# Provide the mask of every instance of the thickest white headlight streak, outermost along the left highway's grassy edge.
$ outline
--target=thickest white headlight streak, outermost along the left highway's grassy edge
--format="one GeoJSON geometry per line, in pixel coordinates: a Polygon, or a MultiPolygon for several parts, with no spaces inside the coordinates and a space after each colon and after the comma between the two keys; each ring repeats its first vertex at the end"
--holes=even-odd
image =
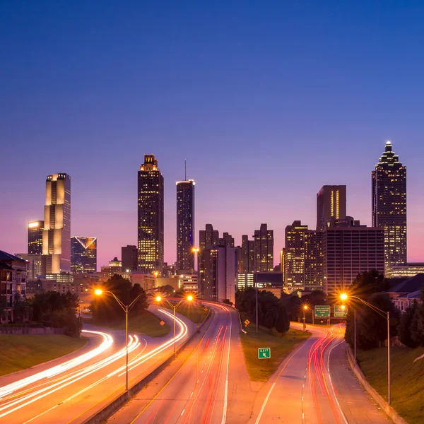
{"type": "Polygon", "coordinates": [[[4,398],[4,396],[11,394],[13,391],[16,391],[18,389],[22,389],[23,387],[28,386],[28,384],[33,384],[39,381],[40,379],[53,377],[54,375],[58,375],[61,372],[70,370],[71,368],[76,367],[77,365],[81,365],[82,363],[100,355],[100,353],[105,352],[108,348],[110,348],[110,346],[112,346],[113,338],[112,336],[110,336],[110,334],[102,333],[101,331],[88,331],[88,330],[83,330],[82,332],[97,334],[98,336],[103,338],[103,341],[102,343],[100,343],[100,346],[98,346],[97,348],[94,348],[93,350],[87,353],[84,353],[83,355],[80,355],[76,358],[66,361],[65,363],[56,365],[52,368],[49,368],[48,370],[37,372],[37,374],[35,375],[30,375],[30,377],[25,377],[23,379],[18,380],[17,382],[8,384],[7,386],[0,387],[0,401],[4,398]]]}

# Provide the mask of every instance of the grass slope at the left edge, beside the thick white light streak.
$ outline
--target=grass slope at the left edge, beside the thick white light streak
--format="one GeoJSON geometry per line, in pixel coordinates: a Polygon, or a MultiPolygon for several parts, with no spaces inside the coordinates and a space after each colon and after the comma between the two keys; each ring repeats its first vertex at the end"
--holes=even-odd
{"type": "Polygon", "coordinates": [[[82,348],[86,343],[86,338],[55,334],[0,334],[0,375],[59,358],[82,348]]]}

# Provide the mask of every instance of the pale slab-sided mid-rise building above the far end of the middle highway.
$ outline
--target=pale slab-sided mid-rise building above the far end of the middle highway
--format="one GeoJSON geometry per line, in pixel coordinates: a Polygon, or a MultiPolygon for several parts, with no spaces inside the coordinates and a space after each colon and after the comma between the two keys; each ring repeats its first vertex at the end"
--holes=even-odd
{"type": "Polygon", "coordinates": [[[199,295],[204,300],[235,302],[237,258],[235,247],[206,247],[201,254],[199,295]]]}

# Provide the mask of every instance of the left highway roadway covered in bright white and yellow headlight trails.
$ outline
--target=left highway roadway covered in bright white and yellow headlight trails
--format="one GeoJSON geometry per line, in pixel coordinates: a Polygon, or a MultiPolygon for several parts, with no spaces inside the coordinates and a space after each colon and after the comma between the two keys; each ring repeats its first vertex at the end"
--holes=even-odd
{"type": "MultiPolygon", "coordinates": [[[[156,313],[172,326],[173,317],[169,310],[153,309],[157,309],[156,313]]],[[[86,332],[93,348],[86,349],[81,355],[71,359],[59,358],[0,379],[1,423],[83,423],[108,399],[124,391],[124,331],[93,332],[94,328],[87,326],[86,332]]],[[[177,346],[194,331],[192,322],[177,315],[177,346]]],[[[130,386],[131,380],[148,374],[172,352],[173,334],[165,338],[130,334],[130,386]]]]}

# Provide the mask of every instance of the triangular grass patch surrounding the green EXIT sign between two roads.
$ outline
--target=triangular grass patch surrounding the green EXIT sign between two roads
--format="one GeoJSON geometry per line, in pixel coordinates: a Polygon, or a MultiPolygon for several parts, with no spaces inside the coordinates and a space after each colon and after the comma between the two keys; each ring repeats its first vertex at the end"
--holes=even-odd
{"type": "Polygon", "coordinates": [[[309,332],[290,329],[284,336],[273,336],[261,330],[256,333],[253,327],[249,334],[241,334],[249,378],[254,382],[266,382],[284,358],[310,335],[309,332]],[[271,359],[258,359],[258,348],[271,348],[271,359]]]}

